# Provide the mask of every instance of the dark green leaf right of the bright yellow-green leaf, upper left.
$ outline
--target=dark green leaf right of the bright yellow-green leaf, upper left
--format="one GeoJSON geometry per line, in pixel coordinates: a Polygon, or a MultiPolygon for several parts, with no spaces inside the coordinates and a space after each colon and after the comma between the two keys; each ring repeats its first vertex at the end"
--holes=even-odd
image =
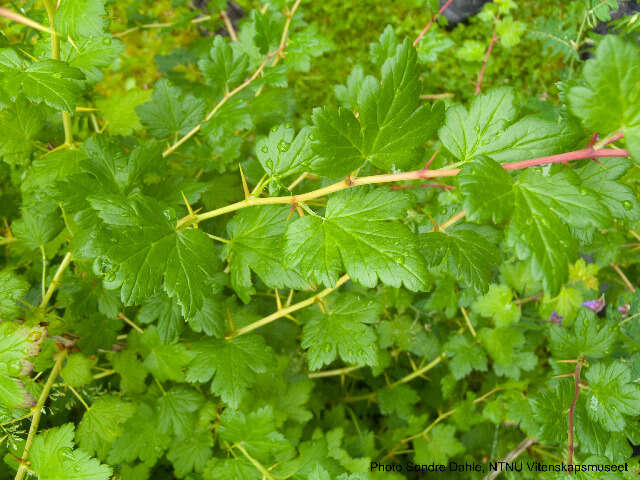
{"type": "Polygon", "coordinates": [[[151,102],[136,107],[142,124],[156,138],[184,135],[204,118],[205,104],[178,87],[160,79],[153,89],[151,102]]]}

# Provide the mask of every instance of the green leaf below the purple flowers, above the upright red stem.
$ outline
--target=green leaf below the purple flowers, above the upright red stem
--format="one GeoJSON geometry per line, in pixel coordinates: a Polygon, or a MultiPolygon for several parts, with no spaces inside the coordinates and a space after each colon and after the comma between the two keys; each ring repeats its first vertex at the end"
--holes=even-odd
{"type": "Polygon", "coordinates": [[[573,329],[552,325],[549,341],[553,355],[559,359],[603,358],[611,352],[617,332],[609,322],[602,322],[594,312],[581,309],[573,329]]]}

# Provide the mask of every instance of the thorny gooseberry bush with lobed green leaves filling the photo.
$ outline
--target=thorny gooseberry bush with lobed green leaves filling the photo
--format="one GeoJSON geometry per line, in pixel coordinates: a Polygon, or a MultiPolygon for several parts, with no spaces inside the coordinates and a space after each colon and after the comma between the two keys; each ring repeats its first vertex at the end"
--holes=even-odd
{"type": "Polygon", "coordinates": [[[421,98],[431,23],[390,26],[334,104],[296,113],[291,79],[340,54],[301,0],[239,25],[224,1],[147,23],[143,3],[124,23],[105,0],[0,9],[3,478],[401,479],[418,473],[371,464],[516,457],[633,478],[632,37],[531,103],[483,87],[496,28],[473,100],[445,104],[421,98]],[[152,88],[118,90],[151,29],[196,34],[152,88]]]}

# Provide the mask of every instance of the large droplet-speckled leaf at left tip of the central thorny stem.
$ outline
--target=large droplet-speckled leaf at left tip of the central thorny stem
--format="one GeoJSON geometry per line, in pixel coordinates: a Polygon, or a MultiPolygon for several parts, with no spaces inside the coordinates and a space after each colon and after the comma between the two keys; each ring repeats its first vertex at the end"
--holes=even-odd
{"type": "Polygon", "coordinates": [[[110,225],[111,238],[102,245],[104,273],[121,286],[125,305],[140,303],[163,286],[180,302],[185,317],[202,308],[215,291],[220,264],[205,233],[176,230],[166,210],[149,198],[132,198],[128,204],[105,196],[89,201],[110,225]]]}

